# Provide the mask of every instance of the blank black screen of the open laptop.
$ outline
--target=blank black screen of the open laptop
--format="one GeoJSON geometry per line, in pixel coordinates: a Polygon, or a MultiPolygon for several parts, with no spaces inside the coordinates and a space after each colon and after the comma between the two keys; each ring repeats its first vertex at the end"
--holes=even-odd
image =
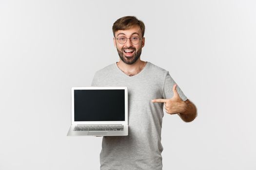
{"type": "Polygon", "coordinates": [[[75,121],[124,121],[124,89],[74,90],[75,121]]]}

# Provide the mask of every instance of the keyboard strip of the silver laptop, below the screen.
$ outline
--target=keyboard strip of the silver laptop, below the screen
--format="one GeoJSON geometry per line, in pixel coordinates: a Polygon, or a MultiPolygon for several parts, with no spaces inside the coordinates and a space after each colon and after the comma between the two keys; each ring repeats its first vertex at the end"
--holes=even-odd
{"type": "Polygon", "coordinates": [[[73,131],[123,131],[123,125],[78,125],[73,131]]]}

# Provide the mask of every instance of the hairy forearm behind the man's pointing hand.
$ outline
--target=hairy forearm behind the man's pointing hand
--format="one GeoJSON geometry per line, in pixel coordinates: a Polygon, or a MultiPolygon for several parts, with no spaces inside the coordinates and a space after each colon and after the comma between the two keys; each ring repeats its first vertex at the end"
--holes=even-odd
{"type": "Polygon", "coordinates": [[[178,115],[183,121],[191,122],[197,117],[197,107],[189,100],[186,100],[185,103],[185,111],[178,113],[178,115]]]}

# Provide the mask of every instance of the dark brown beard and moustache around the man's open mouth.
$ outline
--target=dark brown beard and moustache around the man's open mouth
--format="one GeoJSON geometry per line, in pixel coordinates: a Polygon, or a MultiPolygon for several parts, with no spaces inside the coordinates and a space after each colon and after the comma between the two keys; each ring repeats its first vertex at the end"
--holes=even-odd
{"type": "Polygon", "coordinates": [[[119,55],[120,59],[125,64],[131,65],[131,64],[135,63],[138,60],[138,58],[140,57],[142,49],[139,49],[138,51],[136,51],[135,48],[129,48],[129,49],[132,49],[134,51],[134,55],[132,57],[126,57],[125,52],[124,52],[125,49],[123,49],[123,48],[121,49],[121,51],[119,51],[118,49],[117,50],[118,50],[118,55],[119,55]]]}

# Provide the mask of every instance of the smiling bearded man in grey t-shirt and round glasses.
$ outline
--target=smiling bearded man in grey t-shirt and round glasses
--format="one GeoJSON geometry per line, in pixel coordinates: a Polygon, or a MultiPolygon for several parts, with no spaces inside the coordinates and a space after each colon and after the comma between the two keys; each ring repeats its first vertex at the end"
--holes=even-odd
{"type": "MultiPolygon", "coordinates": [[[[101,170],[162,170],[163,105],[169,114],[190,122],[196,106],[176,85],[168,71],[140,60],[145,44],[144,23],[121,17],[113,24],[114,45],[120,57],[95,73],[92,86],[127,86],[129,135],[104,136],[101,170]]],[[[104,108],[99,108],[104,111],[104,108]]]]}

